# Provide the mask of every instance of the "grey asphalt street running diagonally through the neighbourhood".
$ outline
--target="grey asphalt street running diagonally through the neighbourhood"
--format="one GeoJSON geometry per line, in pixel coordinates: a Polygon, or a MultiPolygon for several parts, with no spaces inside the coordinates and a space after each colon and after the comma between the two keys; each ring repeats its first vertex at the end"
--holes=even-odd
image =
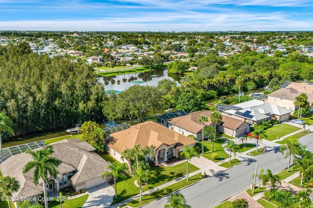
{"type": "MultiPolygon", "coordinates": [[[[308,134],[300,139],[307,149],[313,150],[313,134],[308,134]]],[[[288,160],[278,150],[272,150],[262,154],[256,159],[258,162],[258,171],[270,169],[273,173],[287,168],[288,160]]],[[[255,171],[256,160],[250,160],[229,170],[225,170],[213,177],[207,178],[200,183],[182,189],[182,193],[187,204],[192,208],[210,208],[229,197],[250,187],[253,183],[252,174],[255,171]]],[[[258,182],[258,180],[257,180],[258,182]]],[[[145,206],[145,208],[164,208],[168,203],[168,197],[161,198],[156,202],[145,206]]]]}

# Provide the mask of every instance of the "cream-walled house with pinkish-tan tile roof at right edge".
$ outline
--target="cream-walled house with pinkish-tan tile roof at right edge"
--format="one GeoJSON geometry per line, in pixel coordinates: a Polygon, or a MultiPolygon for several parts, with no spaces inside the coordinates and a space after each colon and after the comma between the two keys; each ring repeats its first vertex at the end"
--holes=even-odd
{"type": "Polygon", "coordinates": [[[308,102],[310,103],[312,109],[313,93],[312,92],[310,93],[310,91],[313,90],[313,85],[304,83],[295,83],[295,84],[293,83],[295,82],[292,82],[286,88],[281,88],[269,94],[267,102],[281,106],[291,111],[295,111],[297,109],[297,106],[293,104],[295,98],[298,95],[305,93],[308,96],[308,102]],[[294,87],[297,89],[295,89],[294,87]]]}

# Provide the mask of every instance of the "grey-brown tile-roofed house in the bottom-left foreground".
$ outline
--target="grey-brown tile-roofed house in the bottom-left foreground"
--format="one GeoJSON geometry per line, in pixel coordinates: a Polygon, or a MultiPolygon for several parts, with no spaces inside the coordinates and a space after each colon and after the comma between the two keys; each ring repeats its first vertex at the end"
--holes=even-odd
{"type": "MultiPolygon", "coordinates": [[[[52,156],[62,161],[58,167],[59,174],[56,179],[50,178],[47,184],[47,191],[58,192],[60,189],[72,186],[76,191],[88,189],[93,186],[107,182],[108,178],[102,178],[101,174],[108,170],[111,164],[105,161],[100,155],[93,152],[95,149],[87,142],[78,138],[64,139],[51,143],[53,146],[52,156]]],[[[36,150],[36,149],[35,149],[36,150]]],[[[16,154],[0,164],[0,171],[3,176],[15,177],[20,183],[20,189],[13,192],[13,197],[34,197],[43,193],[42,183],[35,186],[33,183],[33,170],[23,174],[23,168],[32,160],[31,155],[23,152],[16,154]]],[[[14,201],[16,204],[17,201],[14,201]]]]}

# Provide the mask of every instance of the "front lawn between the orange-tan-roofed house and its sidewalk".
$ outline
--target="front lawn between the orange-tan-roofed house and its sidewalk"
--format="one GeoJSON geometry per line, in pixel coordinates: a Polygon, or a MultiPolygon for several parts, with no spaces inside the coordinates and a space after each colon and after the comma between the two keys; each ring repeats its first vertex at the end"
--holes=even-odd
{"type": "MultiPolygon", "coordinates": [[[[196,166],[189,163],[189,173],[199,170],[196,166]]],[[[154,167],[151,168],[151,175],[153,178],[148,180],[148,184],[142,187],[142,191],[153,189],[157,186],[173,181],[179,177],[186,175],[187,167],[186,162],[173,167],[154,167]]],[[[139,194],[139,188],[134,184],[135,178],[129,178],[124,181],[118,181],[117,186],[117,199],[113,201],[113,204],[128,199],[134,195],[139,194]]]]}

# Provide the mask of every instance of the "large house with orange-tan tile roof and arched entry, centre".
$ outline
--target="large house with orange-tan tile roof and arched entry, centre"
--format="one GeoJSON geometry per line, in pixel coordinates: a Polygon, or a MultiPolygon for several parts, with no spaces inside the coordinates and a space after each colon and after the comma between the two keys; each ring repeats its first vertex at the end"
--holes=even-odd
{"type": "Polygon", "coordinates": [[[147,121],[129,129],[110,134],[107,140],[107,151],[118,161],[123,162],[121,153],[127,148],[139,144],[140,148],[153,145],[155,147],[154,162],[166,161],[169,157],[179,156],[184,147],[194,147],[196,140],[174,132],[155,122],[147,121]]]}

